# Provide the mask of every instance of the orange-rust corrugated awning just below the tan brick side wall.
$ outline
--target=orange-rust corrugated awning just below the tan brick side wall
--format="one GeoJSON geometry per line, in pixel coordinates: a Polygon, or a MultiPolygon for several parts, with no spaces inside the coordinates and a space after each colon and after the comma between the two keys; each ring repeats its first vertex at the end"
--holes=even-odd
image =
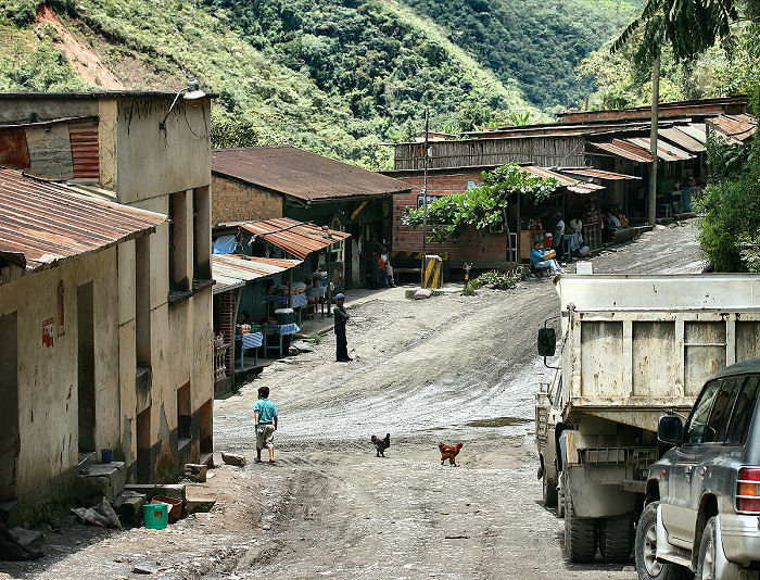
{"type": "Polygon", "coordinates": [[[312,252],[351,238],[351,234],[345,231],[321,228],[289,217],[246,222],[239,226],[301,260],[312,252]]]}

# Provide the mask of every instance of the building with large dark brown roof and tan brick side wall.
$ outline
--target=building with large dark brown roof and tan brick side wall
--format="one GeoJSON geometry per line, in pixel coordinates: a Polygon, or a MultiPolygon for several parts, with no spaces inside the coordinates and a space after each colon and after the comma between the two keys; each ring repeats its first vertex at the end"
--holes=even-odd
{"type": "Polygon", "coordinates": [[[390,244],[393,196],[410,189],[288,146],[215,150],[212,173],[214,225],[290,217],[351,234],[350,242],[330,249],[330,280],[339,289],[367,283],[367,242],[376,237],[390,244]]]}

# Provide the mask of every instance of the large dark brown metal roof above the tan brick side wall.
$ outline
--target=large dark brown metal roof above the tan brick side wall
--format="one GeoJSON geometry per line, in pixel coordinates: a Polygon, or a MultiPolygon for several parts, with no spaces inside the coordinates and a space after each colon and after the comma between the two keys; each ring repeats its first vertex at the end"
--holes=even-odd
{"type": "Polygon", "coordinates": [[[212,151],[212,172],[306,202],[410,191],[408,184],[295,147],[212,151]]]}

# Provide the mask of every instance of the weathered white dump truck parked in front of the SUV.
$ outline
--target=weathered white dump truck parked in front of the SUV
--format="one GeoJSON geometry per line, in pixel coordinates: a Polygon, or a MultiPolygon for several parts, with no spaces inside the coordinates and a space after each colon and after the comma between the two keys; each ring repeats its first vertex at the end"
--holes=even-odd
{"type": "MultiPolygon", "coordinates": [[[[536,395],[544,501],[571,562],[626,562],[658,420],[687,415],[705,381],[760,356],[760,276],[560,276],[560,367],[536,395]]],[[[554,328],[539,351],[556,355],[554,328]]],[[[549,358],[547,358],[548,361],[549,358]]],[[[548,364],[548,363],[547,363],[548,364]]]]}

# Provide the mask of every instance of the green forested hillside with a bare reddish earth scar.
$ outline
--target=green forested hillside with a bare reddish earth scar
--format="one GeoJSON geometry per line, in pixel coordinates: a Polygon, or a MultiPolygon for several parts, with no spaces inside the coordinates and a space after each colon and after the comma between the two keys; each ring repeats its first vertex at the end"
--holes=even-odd
{"type": "Polygon", "coordinates": [[[639,0],[0,0],[0,90],[220,92],[215,139],[368,165],[432,126],[547,119],[639,0]]]}

